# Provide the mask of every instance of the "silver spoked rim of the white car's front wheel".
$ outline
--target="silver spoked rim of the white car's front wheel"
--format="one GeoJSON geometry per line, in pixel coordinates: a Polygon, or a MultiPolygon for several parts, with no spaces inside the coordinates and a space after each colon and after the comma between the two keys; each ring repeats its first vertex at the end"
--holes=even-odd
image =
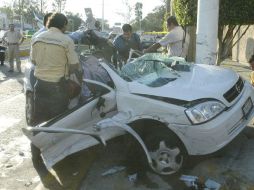
{"type": "Polygon", "coordinates": [[[178,147],[168,148],[164,141],[160,141],[159,148],[149,152],[152,158],[152,169],[161,175],[176,173],[183,164],[183,155],[178,147]]]}

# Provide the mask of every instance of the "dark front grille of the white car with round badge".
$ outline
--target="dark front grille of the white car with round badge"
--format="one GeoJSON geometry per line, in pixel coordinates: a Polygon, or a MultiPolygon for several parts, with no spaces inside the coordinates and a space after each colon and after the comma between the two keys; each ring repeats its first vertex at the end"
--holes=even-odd
{"type": "Polygon", "coordinates": [[[227,91],[223,97],[230,103],[232,102],[243,90],[244,82],[241,77],[239,77],[238,81],[235,85],[227,91]]]}

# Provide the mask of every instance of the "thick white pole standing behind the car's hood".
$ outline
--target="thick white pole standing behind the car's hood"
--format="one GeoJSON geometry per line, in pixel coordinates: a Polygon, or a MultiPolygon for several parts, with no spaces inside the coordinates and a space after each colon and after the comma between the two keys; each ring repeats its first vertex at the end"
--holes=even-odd
{"type": "Polygon", "coordinates": [[[196,62],[214,65],[217,58],[219,0],[198,0],[196,62]]]}

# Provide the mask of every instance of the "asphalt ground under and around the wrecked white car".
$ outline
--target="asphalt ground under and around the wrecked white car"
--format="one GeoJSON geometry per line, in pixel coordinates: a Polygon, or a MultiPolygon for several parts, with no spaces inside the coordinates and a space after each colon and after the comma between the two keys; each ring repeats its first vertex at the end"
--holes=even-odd
{"type": "MultiPolygon", "coordinates": [[[[23,67],[25,61],[22,61],[23,67]]],[[[228,61],[223,66],[236,70],[246,79],[249,77],[250,70],[246,65],[228,61]]],[[[58,163],[51,173],[43,167],[34,167],[30,142],[21,132],[21,128],[26,127],[23,74],[8,73],[6,66],[0,69],[0,190],[185,188],[179,175],[161,177],[140,167],[130,171],[121,139],[112,141],[105,149],[95,147],[74,154],[58,163]],[[101,175],[115,166],[122,166],[122,170],[112,175],[101,175]]],[[[250,125],[217,154],[191,158],[190,167],[182,174],[213,179],[222,184],[222,189],[251,190],[254,189],[253,157],[254,128],[250,125]]]]}

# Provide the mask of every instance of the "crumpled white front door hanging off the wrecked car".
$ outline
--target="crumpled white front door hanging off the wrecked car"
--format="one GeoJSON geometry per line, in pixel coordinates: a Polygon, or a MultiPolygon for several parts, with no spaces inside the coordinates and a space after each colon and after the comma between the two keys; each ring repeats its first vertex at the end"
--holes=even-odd
{"type": "MultiPolygon", "coordinates": [[[[115,89],[96,80],[85,79],[84,81],[91,91],[94,90],[96,93],[80,107],[37,126],[37,129],[47,127],[49,130],[72,129],[97,133],[94,125],[117,113],[115,89]]],[[[72,153],[99,143],[92,136],[64,131],[61,133],[40,132],[35,136],[26,135],[41,150],[41,155],[48,168],[72,153]]],[[[107,138],[107,133],[104,136],[107,138]]]]}

